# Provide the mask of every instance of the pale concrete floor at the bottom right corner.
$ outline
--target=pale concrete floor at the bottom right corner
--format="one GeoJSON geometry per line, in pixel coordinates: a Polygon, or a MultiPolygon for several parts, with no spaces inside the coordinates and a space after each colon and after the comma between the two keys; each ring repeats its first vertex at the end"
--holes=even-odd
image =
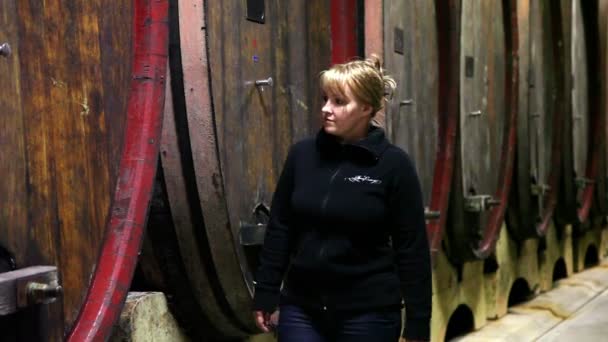
{"type": "Polygon", "coordinates": [[[553,290],[453,341],[608,341],[608,263],[558,281],[553,290]]]}

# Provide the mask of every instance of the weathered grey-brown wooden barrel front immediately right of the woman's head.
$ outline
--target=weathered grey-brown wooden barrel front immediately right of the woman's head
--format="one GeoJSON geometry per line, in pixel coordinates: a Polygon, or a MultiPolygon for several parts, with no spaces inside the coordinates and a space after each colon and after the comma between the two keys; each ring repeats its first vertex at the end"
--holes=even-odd
{"type": "Polygon", "coordinates": [[[397,81],[387,110],[387,130],[392,142],[414,160],[423,200],[429,207],[440,148],[435,5],[431,1],[384,1],[384,17],[385,64],[397,81]]]}

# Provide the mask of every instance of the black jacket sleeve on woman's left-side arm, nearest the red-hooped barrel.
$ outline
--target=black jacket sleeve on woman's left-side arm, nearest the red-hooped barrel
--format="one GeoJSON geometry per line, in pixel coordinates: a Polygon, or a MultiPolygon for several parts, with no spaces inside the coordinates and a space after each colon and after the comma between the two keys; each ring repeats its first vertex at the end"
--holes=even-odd
{"type": "Polygon", "coordinates": [[[294,159],[292,146],[272,198],[260,266],[255,277],[254,310],[273,312],[279,303],[281,281],[289,263],[294,236],[289,227],[295,176],[294,159]]]}

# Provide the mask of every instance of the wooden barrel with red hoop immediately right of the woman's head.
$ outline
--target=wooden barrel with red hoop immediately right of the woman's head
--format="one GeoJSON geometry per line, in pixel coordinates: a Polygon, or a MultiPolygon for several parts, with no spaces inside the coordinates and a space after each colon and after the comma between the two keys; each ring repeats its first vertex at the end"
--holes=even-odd
{"type": "Polygon", "coordinates": [[[445,3],[438,6],[431,1],[384,1],[384,61],[397,82],[386,128],[391,141],[416,164],[433,254],[441,247],[447,219],[457,124],[450,103],[440,100],[448,98],[440,82],[449,77],[450,37],[445,26],[449,9],[445,3]]]}

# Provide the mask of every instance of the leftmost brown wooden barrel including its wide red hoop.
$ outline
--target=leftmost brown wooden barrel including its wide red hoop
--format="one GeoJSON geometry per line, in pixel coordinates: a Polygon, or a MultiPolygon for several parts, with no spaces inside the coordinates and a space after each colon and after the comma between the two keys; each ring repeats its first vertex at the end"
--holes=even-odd
{"type": "Polygon", "coordinates": [[[152,189],[166,9],[149,0],[0,3],[0,246],[17,268],[57,266],[63,287],[41,327],[4,329],[41,328],[50,341],[109,336],[152,189]]]}

